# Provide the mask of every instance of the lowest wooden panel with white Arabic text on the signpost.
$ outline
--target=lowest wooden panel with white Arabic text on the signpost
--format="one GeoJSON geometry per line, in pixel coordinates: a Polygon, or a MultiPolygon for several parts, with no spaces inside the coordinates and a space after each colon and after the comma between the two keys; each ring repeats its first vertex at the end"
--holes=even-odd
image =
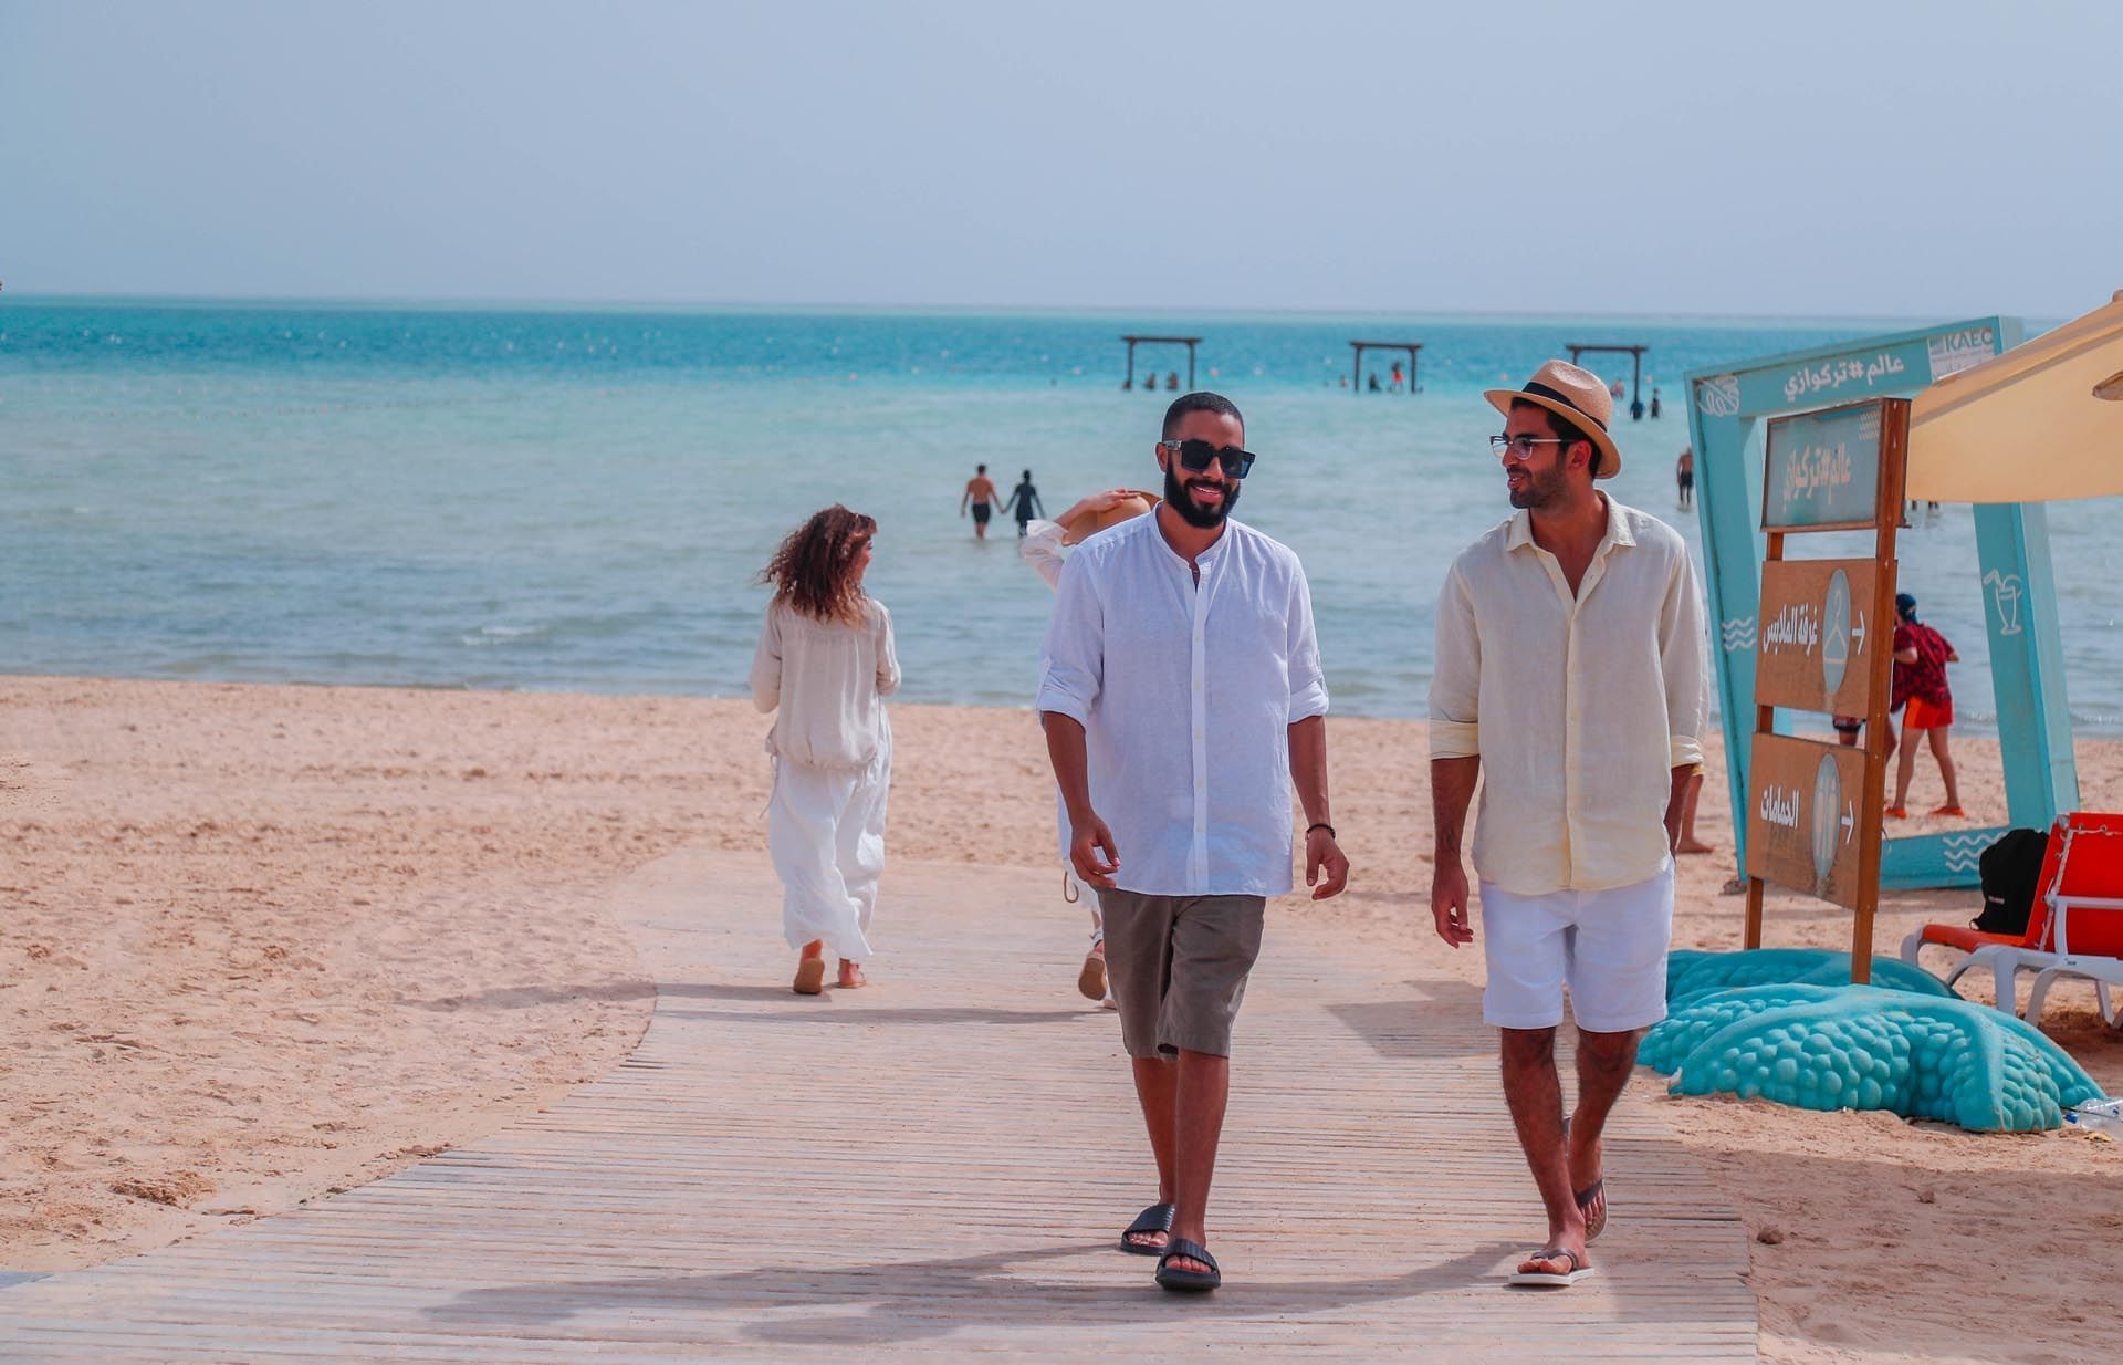
{"type": "Polygon", "coordinates": [[[1866,819],[1868,762],[1858,747],[1756,735],[1747,875],[1858,909],[1866,832],[1879,828],[1866,819]]]}

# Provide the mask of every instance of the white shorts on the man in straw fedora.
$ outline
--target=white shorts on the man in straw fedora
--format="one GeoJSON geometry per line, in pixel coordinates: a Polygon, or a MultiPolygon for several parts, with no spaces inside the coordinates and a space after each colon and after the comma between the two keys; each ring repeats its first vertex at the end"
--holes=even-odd
{"type": "Polygon", "coordinates": [[[1482,883],[1492,1027],[1556,1027],[1571,987],[1577,1027],[1626,1034],[1667,1017],[1667,945],[1673,940],[1673,862],[1611,892],[1514,896],[1482,883]]]}

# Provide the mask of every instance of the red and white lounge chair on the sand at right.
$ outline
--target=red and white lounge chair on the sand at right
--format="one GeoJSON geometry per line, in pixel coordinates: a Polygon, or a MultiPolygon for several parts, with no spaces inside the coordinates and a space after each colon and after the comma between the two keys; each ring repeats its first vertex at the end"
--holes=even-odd
{"type": "Polygon", "coordinates": [[[2123,985],[2123,815],[2076,811],[2057,817],[2034,883],[2025,934],[1928,923],[1902,940],[1902,962],[1915,964],[1930,943],[1968,953],[1947,985],[1972,968],[1987,968],[1998,1008],[2008,1015],[2017,1013],[2019,974],[2036,972],[2027,998],[2030,1023],[2040,1023],[2049,987],[2059,977],[2072,977],[2091,981],[2102,1019],[2123,1027],[2108,998],[2110,985],[2123,985]]]}

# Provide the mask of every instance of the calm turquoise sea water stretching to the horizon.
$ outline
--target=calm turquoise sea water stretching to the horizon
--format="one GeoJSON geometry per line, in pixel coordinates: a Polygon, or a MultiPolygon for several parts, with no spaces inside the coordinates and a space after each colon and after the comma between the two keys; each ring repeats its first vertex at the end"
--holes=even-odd
{"type": "MultiPolygon", "coordinates": [[[[735,696],[754,573],[845,501],[881,522],[907,696],[1025,705],[1051,597],[1011,526],[972,539],[960,490],[983,461],[1004,488],[1030,467],[1049,509],[1155,488],[1170,395],[1121,391],[1117,340],[1155,331],[1202,335],[1199,386],[1246,412],[1238,514],[1304,556],[1337,711],[1420,715],[1444,567],[1507,514],[1482,386],[1567,342],[1647,344],[1667,416],[1622,425],[1613,490],[1694,541],[1681,372],[1889,329],[6,299],[0,671],[735,696]],[[1425,391],[1335,386],[1350,338],[1425,342],[1425,391]]],[[[1142,365],[1185,382],[1180,350],[1142,365]]],[[[2053,512],[2074,711],[2110,732],[2112,514],[2053,512]]],[[[1968,512],[1902,546],[1981,728],[1968,512]]]]}

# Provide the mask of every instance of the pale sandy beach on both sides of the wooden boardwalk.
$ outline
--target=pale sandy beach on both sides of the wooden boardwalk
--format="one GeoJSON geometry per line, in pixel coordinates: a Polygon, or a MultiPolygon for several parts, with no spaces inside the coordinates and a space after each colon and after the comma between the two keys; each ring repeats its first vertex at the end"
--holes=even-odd
{"type": "MultiPolygon", "coordinates": [[[[1028,711],[909,705],[894,726],[894,858],[1051,862],[1028,711]]],[[[272,1214],[611,1068],[652,991],[603,896],[684,845],[764,860],[764,728],[732,701],[0,679],[0,1269],[272,1214]]],[[[1352,894],[1272,915],[1478,983],[1480,955],[1429,930],[1422,726],[1335,720],[1329,743],[1352,894]]],[[[1972,817],[2002,819],[1993,747],[1957,751],[1972,817]]],[[[2123,743],[2078,760],[2083,805],[2112,809],[2123,743]]],[[[1926,760],[1913,805],[1934,792],[1926,760]]],[[[1698,832],[1730,849],[1715,754],[1698,832]]],[[[1737,947],[1728,875],[1684,860],[1677,947],[1737,947]]],[[[1879,951],[1974,900],[1892,898],[1879,951]]],[[[877,977],[890,915],[887,870],[877,977]]],[[[1841,911],[1796,896],[1766,923],[1771,945],[1849,940],[1841,911]]],[[[2123,1089],[2089,989],[2064,987],[2044,1023],[2123,1089]]],[[[1766,1359],[2104,1350],[2123,1146],[1671,1100],[1650,1076],[1633,1102],[1667,1106],[1756,1233],[1766,1359]]]]}

